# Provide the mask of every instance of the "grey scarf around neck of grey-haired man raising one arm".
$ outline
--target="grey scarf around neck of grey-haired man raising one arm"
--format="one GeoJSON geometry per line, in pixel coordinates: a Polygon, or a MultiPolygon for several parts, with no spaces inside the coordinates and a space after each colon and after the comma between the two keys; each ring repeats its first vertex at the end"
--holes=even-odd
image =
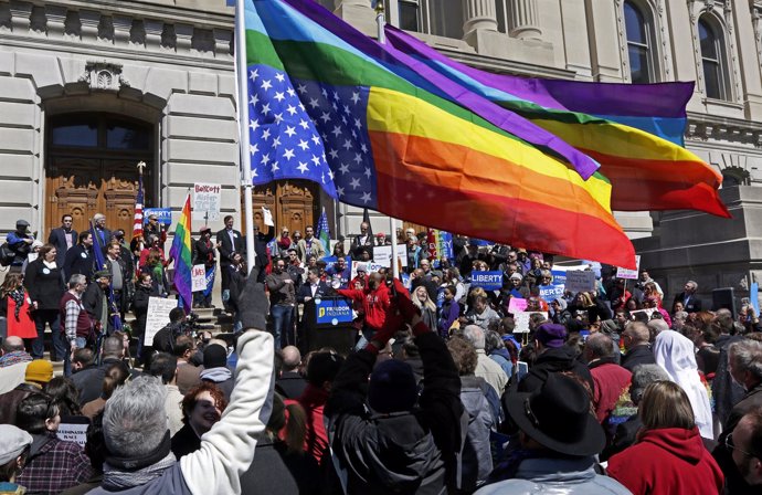
{"type": "Polygon", "coordinates": [[[103,487],[120,492],[145,485],[161,476],[176,462],[168,430],[156,452],[146,457],[125,459],[107,455],[103,465],[103,487]]]}

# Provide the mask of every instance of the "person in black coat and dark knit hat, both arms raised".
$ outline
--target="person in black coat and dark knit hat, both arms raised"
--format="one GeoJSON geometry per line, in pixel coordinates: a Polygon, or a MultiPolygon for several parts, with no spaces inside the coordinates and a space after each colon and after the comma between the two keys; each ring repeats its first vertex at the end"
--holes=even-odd
{"type": "Polygon", "coordinates": [[[402,323],[387,314],[383,327],[347,358],[334,381],[325,411],[335,431],[332,449],[347,471],[348,493],[442,493],[454,481],[448,475],[461,450],[461,380],[443,340],[421,322],[402,284],[394,284],[423,360],[423,393],[419,399],[405,362],[390,359],[373,369],[402,323]],[[364,412],[366,390],[372,417],[364,412]],[[410,445],[404,456],[399,445],[410,445]]]}

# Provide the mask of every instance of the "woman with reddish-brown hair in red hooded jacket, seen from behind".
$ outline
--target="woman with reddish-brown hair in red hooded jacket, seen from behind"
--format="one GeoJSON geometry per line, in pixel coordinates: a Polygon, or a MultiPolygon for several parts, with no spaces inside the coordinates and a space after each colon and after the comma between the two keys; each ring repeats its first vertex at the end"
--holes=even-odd
{"type": "Polygon", "coordinates": [[[686,392],[656,381],[643,392],[636,443],[608,461],[608,475],[633,494],[699,495],[722,492],[724,476],[703,446],[686,392]]]}

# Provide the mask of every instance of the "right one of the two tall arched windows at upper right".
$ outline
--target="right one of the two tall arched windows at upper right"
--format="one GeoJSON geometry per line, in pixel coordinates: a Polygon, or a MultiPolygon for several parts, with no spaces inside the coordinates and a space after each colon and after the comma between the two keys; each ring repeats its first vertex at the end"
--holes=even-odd
{"type": "Polygon", "coordinates": [[[710,15],[698,21],[703,67],[703,89],[708,98],[730,99],[730,84],[722,28],[710,15]]]}

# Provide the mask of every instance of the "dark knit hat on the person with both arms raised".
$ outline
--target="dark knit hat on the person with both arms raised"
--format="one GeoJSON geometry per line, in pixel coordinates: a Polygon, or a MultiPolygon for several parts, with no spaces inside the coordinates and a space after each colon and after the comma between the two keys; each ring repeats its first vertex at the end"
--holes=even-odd
{"type": "Polygon", "coordinates": [[[370,375],[368,403],[375,412],[410,411],[417,398],[413,368],[405,361],[383,361],[370,375]]]}

